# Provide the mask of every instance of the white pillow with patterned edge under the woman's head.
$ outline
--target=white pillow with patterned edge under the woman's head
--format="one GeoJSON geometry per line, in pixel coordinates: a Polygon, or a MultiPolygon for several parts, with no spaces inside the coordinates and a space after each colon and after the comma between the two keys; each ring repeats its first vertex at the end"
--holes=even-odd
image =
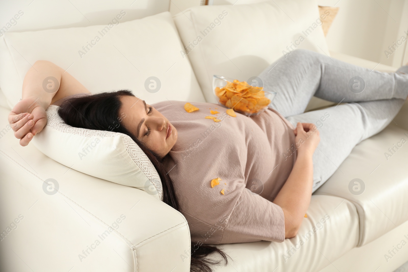
{"type": "Polygon", "coordinates": [[[163,199],[159,174],[131,137],[69,126],[58,115],[58,108],[47,108],[47,125],[32,139],[35,147],[69,168],[163,199]]]}

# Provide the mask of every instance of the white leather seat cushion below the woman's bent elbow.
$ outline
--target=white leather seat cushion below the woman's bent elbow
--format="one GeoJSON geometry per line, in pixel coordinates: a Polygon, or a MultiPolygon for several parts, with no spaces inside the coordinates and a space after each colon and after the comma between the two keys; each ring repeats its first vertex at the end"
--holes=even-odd
{"type": "Polygon", "coordinates": [[[307,216],[296,237],[282,243],[262,241],[222,245],[233,261],[215,271],[319,271],[357,245],[358,214],[350,201],[313,195],[307,216]]]}

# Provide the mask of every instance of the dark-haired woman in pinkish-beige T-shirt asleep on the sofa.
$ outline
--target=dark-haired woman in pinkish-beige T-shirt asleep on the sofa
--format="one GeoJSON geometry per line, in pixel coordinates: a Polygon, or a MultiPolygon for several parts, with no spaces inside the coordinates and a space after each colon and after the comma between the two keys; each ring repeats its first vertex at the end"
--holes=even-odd
{"type": "Polygon", "coordinates": [[[60,67],[38,61],[24,78],[9,122],[26,146],[46,125],[50,104],[60,106],[64,122],[80,128],[108,130],[126,116],[113,131],[132,137],[151,159],[163,201],[188,221],[192,269],[211,271],[208,253],[226,261],[212,245],[282,242],[297,234],[312,193],[356,144],[398,113],[408,96],[407,73],[408,66],[380,73],[296,50],[259,75],[265,89],[277,92],[273,108],[227,117],[225,108],[209,103],[193,103],[200,111],[186,113],[185,102],[150,105],[126,90],[92,95],[60,67]],[[42,88],[50,76],[60,82],[56,93],[42,88]],[[312,96],[337,105],[304,113],[312,96]],[[215,107],[222,122],[204,118],[215,107]],[[212,188],[216,178],[220,185],[212,188]]]}

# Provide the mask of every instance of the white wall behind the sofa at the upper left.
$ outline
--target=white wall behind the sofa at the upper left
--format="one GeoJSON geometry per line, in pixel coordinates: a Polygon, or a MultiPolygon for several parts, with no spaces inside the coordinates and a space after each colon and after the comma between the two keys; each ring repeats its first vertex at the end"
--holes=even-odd
{"type": "Polygon", "coordinates": [[[108,24],[121,10],[124,10],[126,15],[120,22],[126,22],[168,11],[169,2],[169,0],[0,0],[0,29],[21,32],[108,24]],[[16,14],[18,20],[15,20],[16,14]]]}

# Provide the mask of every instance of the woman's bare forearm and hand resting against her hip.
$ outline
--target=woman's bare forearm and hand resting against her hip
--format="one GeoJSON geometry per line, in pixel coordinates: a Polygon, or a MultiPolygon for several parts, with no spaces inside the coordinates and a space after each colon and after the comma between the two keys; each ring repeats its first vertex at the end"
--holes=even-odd
{"type": "Polygon", "coordinates": [[[313,188],[313,153],[319,144],[319,130],[314,124],[298,123],[295,129],[297,158],[284,186],[273,203],[285,217],[285,238],[295,237],[310,204],[313,188]]]}

